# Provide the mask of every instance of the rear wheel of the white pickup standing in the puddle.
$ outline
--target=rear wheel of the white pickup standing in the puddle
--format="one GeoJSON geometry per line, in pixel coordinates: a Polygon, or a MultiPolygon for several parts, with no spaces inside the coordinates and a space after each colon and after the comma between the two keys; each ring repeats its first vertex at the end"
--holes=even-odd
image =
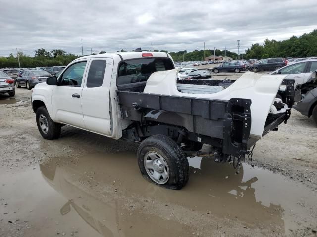
{"type": "Polygon", "coordinates": [[[184,151],[165,135],[153,135],[140,144],[138,163],[145,179],[164,188],[181,189],[189,179],[184,151]]]}

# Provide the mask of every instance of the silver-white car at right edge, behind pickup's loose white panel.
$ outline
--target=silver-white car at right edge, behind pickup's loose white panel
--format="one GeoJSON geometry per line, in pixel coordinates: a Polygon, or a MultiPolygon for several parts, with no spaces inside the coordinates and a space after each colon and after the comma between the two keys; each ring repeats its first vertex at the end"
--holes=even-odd
{"type": "Polygon", "coordinates": [[[295,80],[294,86],[297,86],[306,83],[315,70],[317,70],[317,59],[292,63],[271,74],[287,74],[286,79],[295,80]]]}

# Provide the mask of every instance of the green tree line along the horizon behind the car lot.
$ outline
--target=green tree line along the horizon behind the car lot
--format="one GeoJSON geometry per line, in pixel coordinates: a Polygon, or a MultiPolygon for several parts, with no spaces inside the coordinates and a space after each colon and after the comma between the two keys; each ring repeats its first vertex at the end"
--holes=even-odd
{"type": "MultiPolygon", "coordinates": [[[[153,50],[156,52],[168,52],[166,50],[153,50]]],[[[118,51],[119,52],[119,51],[118,51]]],[[[121,49],[121,52],[125,50],[121,49]]],[[[101,51],[100,53],[106,53],[101,51]]],[[[94,54],[94,53],[93,53],[94,54]]],[[[187,52],[187,50],[179,52],[169,52],[174,61],[195,61],[204,60],[204,50],[194,50],[187,52]]],[[[205,57],[211,56],[228,56],[233,59],[237,59],[238,55],[235,52],[229,50],[215,49],[205,50],[205,57]]],[[[74,59],[80,57],[75,54],[66,53],[61,49],[53,49],[47,51],[44,48],[35,50],[34,57],[28,56],[23,51],[18,51],[21,67],[45,67],[54,65],[67,65],[74,59]]],[[[310,33],[305,33],[300,37],[292,36],[290,39],[276,41],[266,39],[263,45],[259,43],[253,44],[246,50],[245,58],[247,59],[262,59],[271,57],[309,57],[317,56],[317,30],[313,30],[310,33]]],[[[241,58],[241,57],[240,57],[241,58]]],[[[0,68],[17,68],[19,67],[18,59],[12,53],[9,57],[0,57],[0,68]]]]}

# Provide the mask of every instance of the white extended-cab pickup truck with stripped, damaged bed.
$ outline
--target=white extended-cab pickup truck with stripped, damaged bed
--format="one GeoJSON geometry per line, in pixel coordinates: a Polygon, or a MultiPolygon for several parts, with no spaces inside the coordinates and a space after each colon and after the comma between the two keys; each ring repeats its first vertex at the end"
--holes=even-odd
{"type": "Polygon", "coordinates": [[[213,147],[216,161],[239,166],[257,140],[290,116],[292,83],[284,81],[276,98],[285,75],[247,72],[223,87],[216,80],[181,80],[177,71],[162,52],[78,58],[33,89],[38,129],[45,139],[70,125],[139,142],[142,175],[181,189],[189,179],[187,155],[203,144],[213,147]]]}

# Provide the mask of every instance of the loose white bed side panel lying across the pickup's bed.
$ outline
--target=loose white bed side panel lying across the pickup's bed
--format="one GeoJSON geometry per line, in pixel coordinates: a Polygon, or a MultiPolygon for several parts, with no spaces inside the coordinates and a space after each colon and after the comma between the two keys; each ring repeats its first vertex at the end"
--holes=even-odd
{"type": "Polygon", "coordinates": [[[192,98],[229,100],[231,98],[251,99],[250,135],[261,138],[265,121],[274,98],[287,75],[244,73],[228,88],[211,94],[190,94],[177,90],[178,69],[153,73],[147,81],[144,93],[186,96],[192,98]]]}

